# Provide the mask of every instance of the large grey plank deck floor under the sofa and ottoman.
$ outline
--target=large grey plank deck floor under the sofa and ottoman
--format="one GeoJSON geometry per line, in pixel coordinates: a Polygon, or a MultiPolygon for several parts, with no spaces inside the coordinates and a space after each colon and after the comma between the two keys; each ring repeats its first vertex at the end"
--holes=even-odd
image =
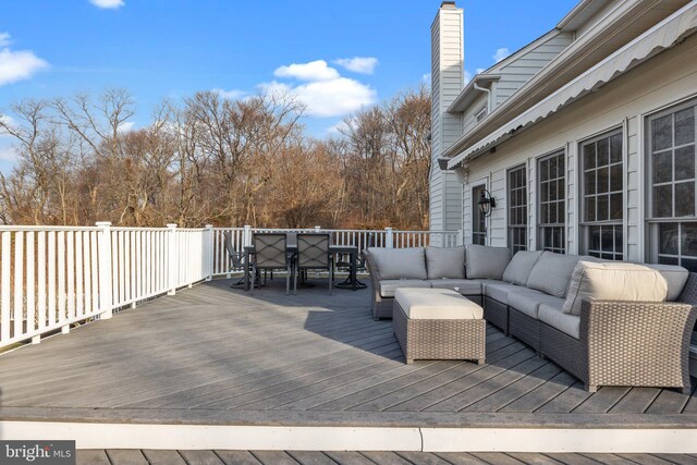
{"type": "MultiPolygon", "coordinates": [[[[405,365],[369,290],[218,280],[0,355],[2,420],[697,428],[697,395],[603,387],[490,327],[487,364],[405,365]]],[[[693,386],[697,382],[693,381],[693,386]]]]}

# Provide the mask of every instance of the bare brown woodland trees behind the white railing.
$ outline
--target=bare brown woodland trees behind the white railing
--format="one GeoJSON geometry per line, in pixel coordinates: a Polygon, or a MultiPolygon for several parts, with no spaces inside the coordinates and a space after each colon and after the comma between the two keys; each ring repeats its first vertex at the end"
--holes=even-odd
{"type": "Polygon", "coordinates": [[[17,102],[0,112],[19,152],[0,175],[0,223],[428,227],[426,88],[346,118],[328,139],[307,134],[303,110],[283,95],[201,91],[124,131],[136,107],[123,89],[17,102]]]}

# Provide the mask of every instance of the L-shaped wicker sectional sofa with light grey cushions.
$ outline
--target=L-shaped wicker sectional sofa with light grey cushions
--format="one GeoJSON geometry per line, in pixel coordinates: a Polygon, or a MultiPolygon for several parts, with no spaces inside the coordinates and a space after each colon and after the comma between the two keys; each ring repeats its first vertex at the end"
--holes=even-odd
{"type": "Polygon", "coordinates": [[[488,322],[555,362],[591,392],[600,386],[670,387],[688,392],[697,274],[674,266],[629,264],[626,272],[617,272],[604,269],[616,268],[614,262],[606,266],[601,261],[549,252],[518,252],[511,257],[508,248],[480,245],[366,250],[376,319],[392,317],[399,287],[453,289],[481,304],[488,322]],[[598,279],[606,281],[604,276],[616,279],[612,273],[619,273],[625,280],[619,287],[626,287],[635,298],[583,298],[582,290],[570,290],[578,285],[582,268],[597,268],[598,279]],[[634,283],[632,277],[651,281],[634,283]],[[652,286],[664,298],[636,298],[650,293],[652,286]],[[567,298],[570,293],[577,295],[567,298]],[[565,308],[572,299],[573,308],[565,308]]]}

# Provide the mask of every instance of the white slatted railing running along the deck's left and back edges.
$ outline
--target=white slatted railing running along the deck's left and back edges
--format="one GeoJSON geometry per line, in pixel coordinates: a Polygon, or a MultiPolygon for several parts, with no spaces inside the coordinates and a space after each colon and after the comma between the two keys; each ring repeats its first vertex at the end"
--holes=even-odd
{"type": "Polygon", "coordinates": [[[462,244],[462,232],[95,227],[0,227],[0,347],[70,331],[71,325],[234,271],[235,250],[260,231],[322,231],[338,245],[412,247],[462,244]]]}

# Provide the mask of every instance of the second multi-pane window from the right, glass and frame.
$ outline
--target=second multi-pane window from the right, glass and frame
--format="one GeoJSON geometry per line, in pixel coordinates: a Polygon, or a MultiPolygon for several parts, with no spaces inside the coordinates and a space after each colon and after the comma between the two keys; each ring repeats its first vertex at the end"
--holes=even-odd
{"type": "Polygon", "coordinates": [[[583,253],[624,257],[622,131],[580,144],[583,253]]]}

